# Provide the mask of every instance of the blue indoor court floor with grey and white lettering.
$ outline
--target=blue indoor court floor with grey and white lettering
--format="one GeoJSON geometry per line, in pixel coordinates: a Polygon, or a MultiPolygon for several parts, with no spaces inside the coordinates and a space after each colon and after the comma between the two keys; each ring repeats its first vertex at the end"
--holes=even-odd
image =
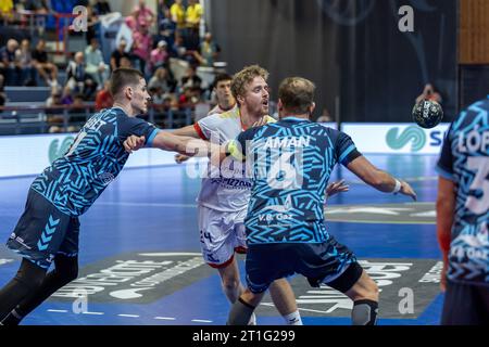
{"type": "MultiPolygon", "coordinates": [[[[329,231],[355,252],[378,283],[379,324],[438,324],[442,295],[435,228],[437,156],[367,158],[408,180],[418,194],[417,203],[377,192],[339,168],[333,179],[344,178],[350,191],[328,201],[329,231]]],[[[220,277],[200,256],[195,204],[200,180],[187,174],[184,165],[124,169],[80,218],[78,279],[23,323],[225,324],[229,304],[220,277]]],[[[1,286],[20,265],[3,244],[23,211],[33,179],[0,179],[1,286]]],[[[351,301],[341,293],[312,288],[302,277],[289,280],[304,324],[350,324],[351,301]]],[[[284,324],[271,303],[265,296],[256,311],[258,323],[284,324]]]]}

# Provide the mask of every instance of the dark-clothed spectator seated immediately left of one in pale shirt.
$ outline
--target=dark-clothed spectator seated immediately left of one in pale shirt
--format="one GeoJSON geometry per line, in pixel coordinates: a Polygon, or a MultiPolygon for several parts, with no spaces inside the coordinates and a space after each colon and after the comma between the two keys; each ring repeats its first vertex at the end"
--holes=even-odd
{"type": "Polygon", "coordinates": [[[86,100],[89,100],[96,91],[97,82],[87,73],[83,52],[76,52],[75,59],[70,61],[66,67],[66,85],[72,92],[84,94],[86,100]]]}

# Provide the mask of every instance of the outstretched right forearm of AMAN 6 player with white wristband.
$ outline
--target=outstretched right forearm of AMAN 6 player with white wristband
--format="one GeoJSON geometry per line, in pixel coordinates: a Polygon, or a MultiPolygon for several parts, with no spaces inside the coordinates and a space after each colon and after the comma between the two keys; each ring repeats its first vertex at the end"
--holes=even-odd
{"type": "MultiPolygon", "coordinates": [[[[396,189],[396,179],[386,171],[376,168],[363,155],[350,162],[347,167],[350,171],[362,179],[362,181],[379,190],[380,192],[392,193],[396,189]]],[[[400,183],[401,187],[399,193],[411,196],[415,201],[416,193],[413,191],[411,185],[405,181],[400,181],[400,183]]]]}

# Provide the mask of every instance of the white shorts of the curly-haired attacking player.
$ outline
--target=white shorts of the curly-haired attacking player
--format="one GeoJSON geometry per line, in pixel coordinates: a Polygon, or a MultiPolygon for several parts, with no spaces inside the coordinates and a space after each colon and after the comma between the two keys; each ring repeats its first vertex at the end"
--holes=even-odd
{"type": "Polygon", "coordinates": [[[235,252],[246,253],[246,215],[247,209],[223,213],[199,205],[200,247],[211,267],[226,267],[233,261],[235,252]]]}

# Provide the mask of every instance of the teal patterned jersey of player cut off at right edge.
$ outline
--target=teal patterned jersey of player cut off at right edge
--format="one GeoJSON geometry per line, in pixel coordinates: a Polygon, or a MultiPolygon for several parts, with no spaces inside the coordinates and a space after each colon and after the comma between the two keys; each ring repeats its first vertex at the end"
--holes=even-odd
{"type": "Polygon", "coordinates": [[[456,188],[447,277],[489,285],[489,99],[452,123],[437,170],[456,188]]]}

